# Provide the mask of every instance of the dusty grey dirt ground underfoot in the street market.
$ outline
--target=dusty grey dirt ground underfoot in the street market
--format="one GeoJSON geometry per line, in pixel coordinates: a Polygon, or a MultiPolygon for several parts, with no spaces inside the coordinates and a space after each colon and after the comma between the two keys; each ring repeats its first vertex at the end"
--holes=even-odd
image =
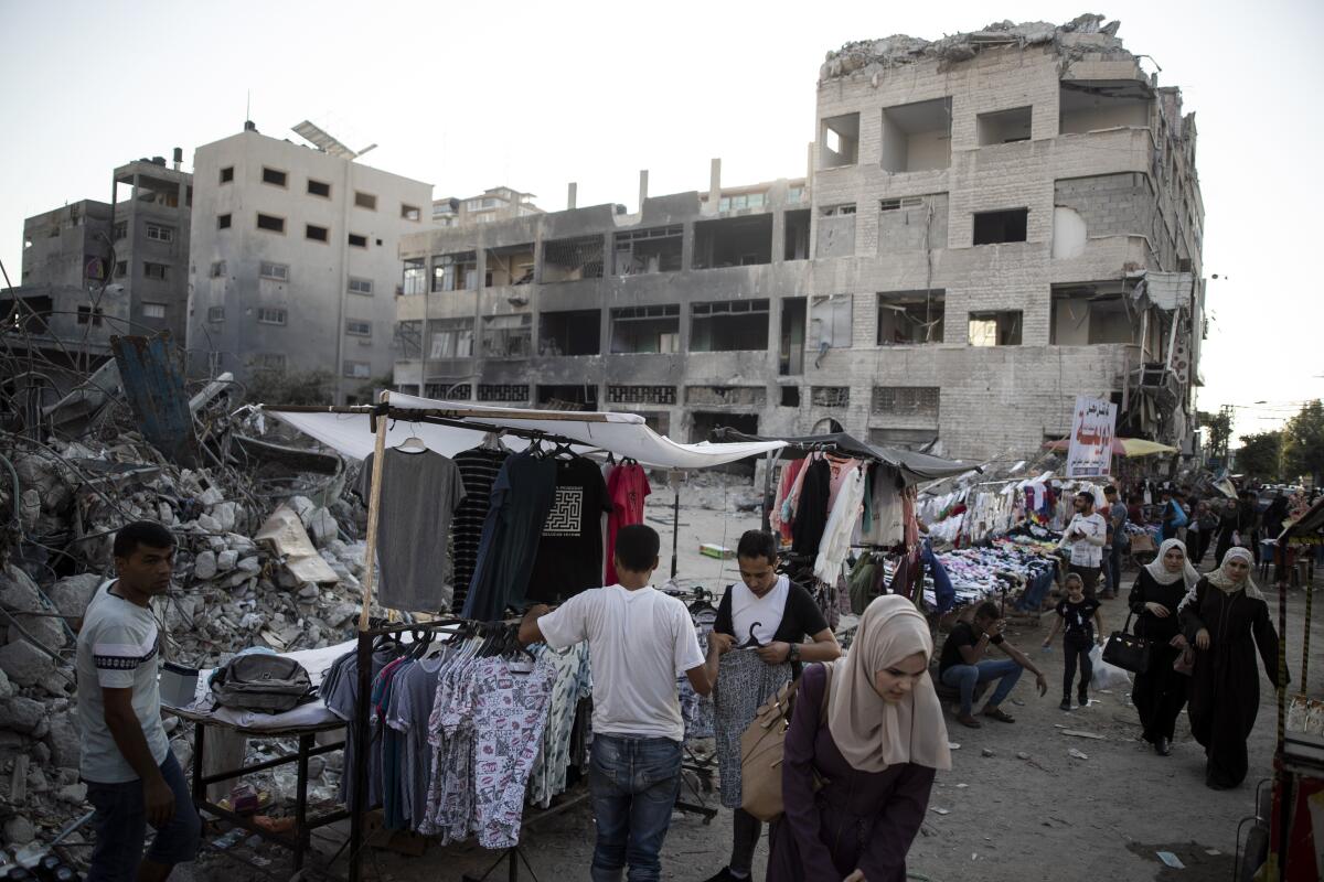
{"type": "MultiPolygon", "coordinates": [[[[649,505],[649,524],[662,533],[662,567],[670,563],[670,492],[657,488],[649,505]],[[657,518],[657,520],[654,520],[657,518]],[[666,521],[666,524],[658,521],[666,521]]],[[[698,495],[720,506],[737,492],[708,488],[698,495]]],[[[748,496],[748,493],[744,493],[748,496]]],[[[681,509],[679,575],[710,588],[735,579],[733,561],[715,561],[698,554],[702,542],[733,547],[743,530],[757,526],[757,513],[735,513],[685,505],[681,509]]],[[[1205,562],[1207,569],[1211,563],[1205,562]]],[[[1132,574],[1133,578],[1133,574],[1132,574]]],[[[1125,581],[1129,587],[1131,578],[1125,581]]],[[[1324,575],[1316,584],[1324,583],[1324,575]]],[[[1263,586],[1271,587],[1271,586],[1263,586]]],[[[1271,608],[1276,602],[1271,598],[1271,608]]],[[[1300,647],[1304,592],[1288,600],[1287,657],[1294,684],[1300,680],[1300,647]]],[[[1123,600],[1104,603],[1104,621],[1111,629],[1125,616],[1123,600]]],[[[1312,643],[1324,645],[1324,610],[1317,610],[1312,643]]],[[[1050,624],[1045,618],[1045,628],[1050,624]]],[[[1276,627],[1276,625],[1275,625],[1276,627]]],[[[1094,694],[1096,701],[1082,710],[1058,709],[1062,682],[1061,640],[1053,651],[1039,648],[1046,629],[1009,628],[1008,636],[1026,651],[1047,676],[1050,690],[1039,698],[1031,677],[1022,677],[1006,710],[1017,722],[988,722],[968,730],[948,714],[953,768],[940,772],[929,801],[928,817],[910,852],[912,879],[931,882],[1062,881],[1099,879],[1226,879],[1231,877],[1237,849],[1237,825],[1255,807],[1255,785],[1270,776],[1274,748],[1274,692],[1260,678],[1260,713],[1250,741],[1251,772],[1233,791],[1211,791],[1204,784],[1204,751],[1190,738],[1185,714],[1178,721],[1172,756],[1157,756],[1137,741],[1136,711],[1128,689],[1094,694]],[[1062,727],[1102,735],[1086,739],[1064,735],[1062,727]],[[1075,759],[1075,748],[1087,759],[1075,759]],[[1021,755],[1026,758],[1021,758],[1021,755]],[[939,809],[943,809],[941,812],[939,809]],[[1185,870],[1165,867],[1156,852],[1174,853],[1185,870]]],[[[1321,656],[1312,653],[1316,659],[1321,656]]],[[[1324,696],[1324,669],[1313,672],[1309,693],[1324,696]]],[[[692,796],[687,793],[686,796],[692,796]]],[[[718,807],[715,793],[707,796],[718,807]]],[[[719,870],[730,853],[730,812],[720,811],[711,824],[677,813],[663,850],[665,879],[699,882],[719,870]]],[[[330,848],[319,842],[319,848],[330,848]]],[[[528,829],[523,850],[544,882],[588,878],[593,852],[593,822],[587,804],[567,809],[528,829]]],[[[277,857],[265,852],[270,857],[277,857]]],[[[364,862],[365,877],[383,882],[458,881],[462,874],[481,875],[498,856],[477,846],[430,849],[422,857],[375,852],[364,862]]],[[[756,854],[755,878],[761,879],[767,840],[756,854]]],[[[343,869],[343,863],[338,869],[343,869]]],[[[195,875],[236,879],[236,865],[217,860],[197,867],[195,875]]],[[[238,875],[249,875],[238,873],[238,875]]],[[[506,879],[507,866],[490,879],[506,879]]],[[[531,879],[520,867],[520,879],[531,879]]]]}

